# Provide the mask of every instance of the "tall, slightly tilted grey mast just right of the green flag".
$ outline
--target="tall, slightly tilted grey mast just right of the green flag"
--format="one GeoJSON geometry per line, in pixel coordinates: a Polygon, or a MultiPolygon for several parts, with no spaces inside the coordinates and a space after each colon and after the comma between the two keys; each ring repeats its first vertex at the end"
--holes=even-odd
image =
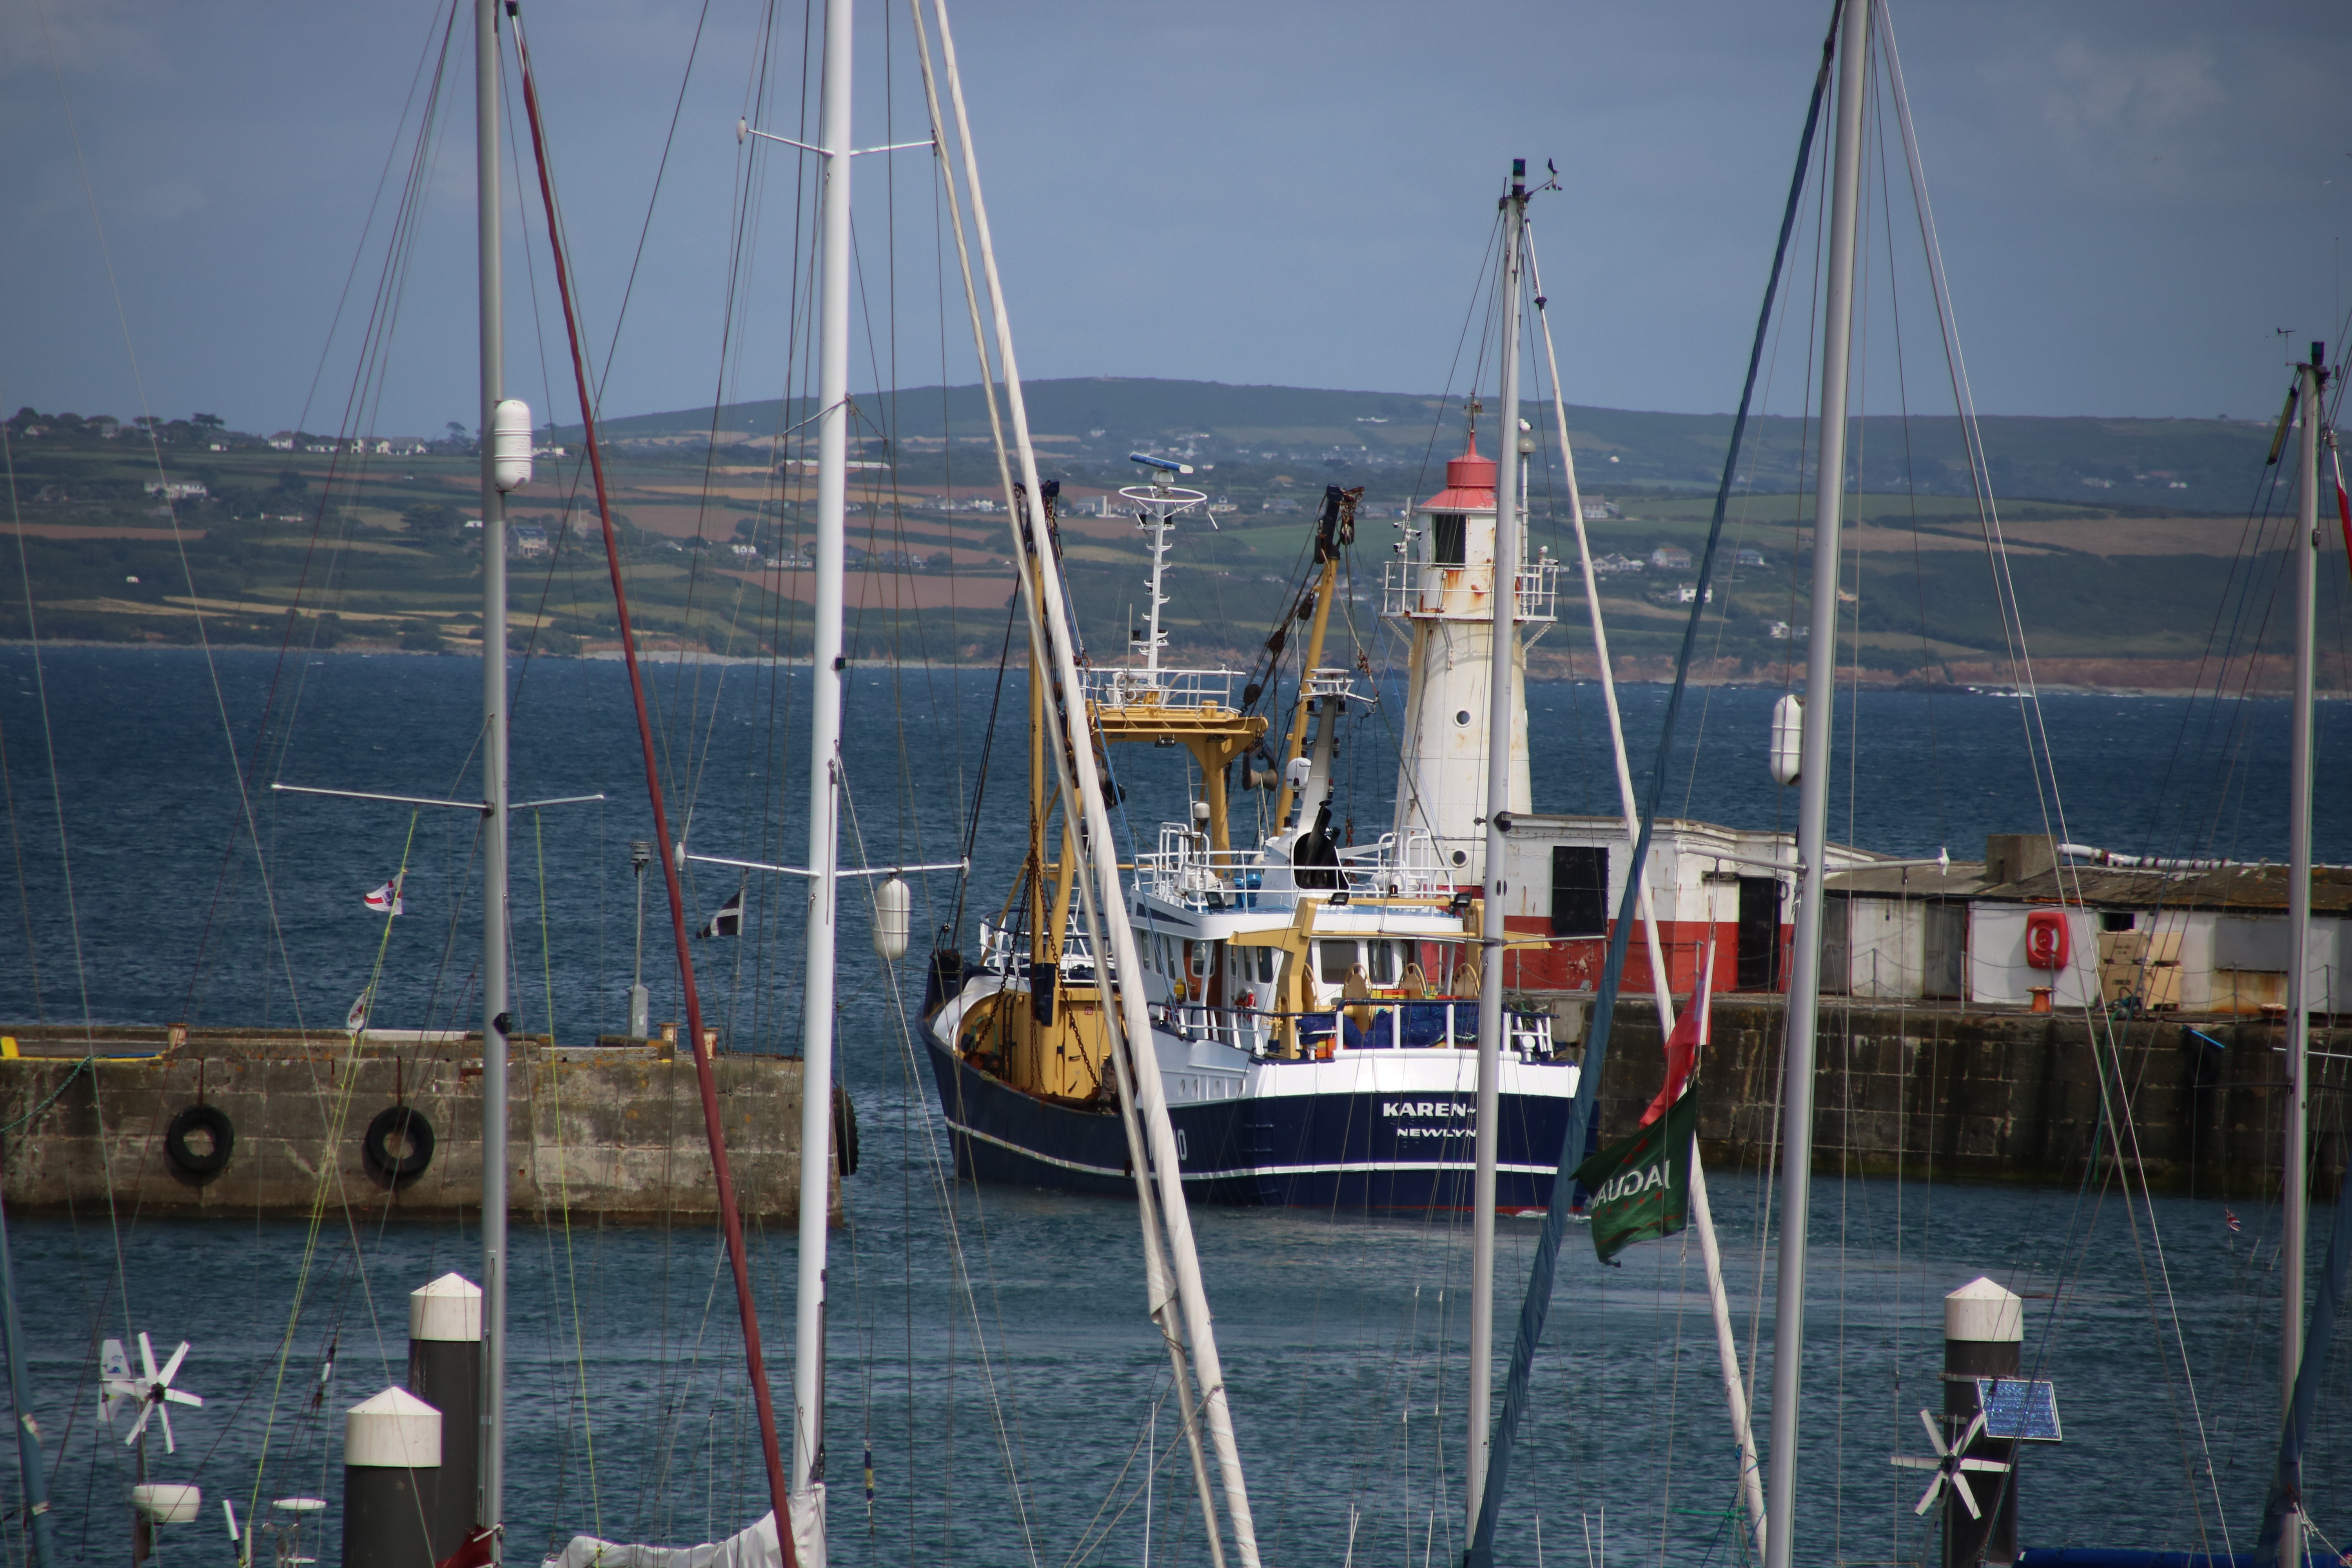
{"type": "Polygon", "coordinates": [[[1804,1248],[1813,1190],[1813,1032],[1820,1023],[1820,917],[1830,846],[1830,719],[1837,712],[1837,564],[1846,501],[1846,357],[1853,346],[1853,240],[1863,167],[1870,0],[1844,0],[1837,40],[1837,160],[1830,183],[1830,292],[1823,301],[1820,470],[1813,484],[1813,628],[1804,668],[1797,799],[1797,931],[1788,983],[1780,1131],[1780,1281],[1773,1302],[1771,1472],[1764,1568],[1790,1568],[1797,1537],[1797,1401],[1804,1389],[1804,1248]]]}

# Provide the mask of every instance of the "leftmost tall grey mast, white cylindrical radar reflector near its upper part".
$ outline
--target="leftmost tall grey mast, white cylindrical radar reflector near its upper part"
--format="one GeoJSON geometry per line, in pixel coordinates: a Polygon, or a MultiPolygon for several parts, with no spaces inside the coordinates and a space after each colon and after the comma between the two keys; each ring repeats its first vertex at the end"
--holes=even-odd
{"type": "Polygon", "coordinates": [[[480,1523],[506,1516],[506,496],[496,414],[506,383],[499,244],[499,0],[475,0],[473,150],[482,292],[482,1481],[480,1523]]]}

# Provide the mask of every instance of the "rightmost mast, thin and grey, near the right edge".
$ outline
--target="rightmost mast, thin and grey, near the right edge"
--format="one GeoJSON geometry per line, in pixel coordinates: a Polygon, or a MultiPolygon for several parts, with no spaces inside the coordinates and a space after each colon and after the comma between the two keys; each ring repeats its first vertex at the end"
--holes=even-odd
{"type": "MultiPolygon", "coordinates": [[[[2312,931],[2312,649],[2319,632],[2319,402],[2324,348],[2296,367],[2303,402],[2303,451],[2296,503],[2296,722],[2286,764],[2286,1124],[2279,1150],[2279,1197],[2286,1215],[2279,1241],[2279,1418],[2296,1403],[2303,1368],[2303,1248],[2307,1232],[2310,1140],[2310,964],[2312,931]]],[[[2284,1559],[2281,1559],[2284,1561],[2284,1559]]],[[[2300,1554],[2298,1554],[2300,1561],[2300,1554]]]]}

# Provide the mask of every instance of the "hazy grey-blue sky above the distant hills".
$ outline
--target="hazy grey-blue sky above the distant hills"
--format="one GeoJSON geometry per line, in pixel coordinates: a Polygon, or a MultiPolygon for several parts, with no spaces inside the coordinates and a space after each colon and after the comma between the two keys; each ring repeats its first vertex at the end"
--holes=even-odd
{"type": "MultiPolygon", "coordinates": [[[[466,9],[419,155],[447,5],[0,0],[0,404],[247,430],[475,423],[466,9]]],[[[1021,369],[1461,386],[1494,197],[1524,155],[1559,169],[1534,226],[1566,395],[1731,409],[1828,12],[957,9],[1021,369]]],[[[858,143],[924,136],[908,12],[856,14],[858,143]]],[[[2352,299],[2352,14],[1898,0],[1889,16],[1978,409],[2274,416],[2284,362],[2336,336],[2352,299]]],[[[604,411],[804,383],[807,160],[741,146],[736,120],[809,139],[821,14],[574,0],[527,5],[524,26],[604,411]]],[[[508,390],[572,421],[520,172],[508,390]]],[[[1865,181],[1865,400],[1950,411],[1898,141],[1875,143],[1865,181]]],[[[856,381],[969,381],[931,155],[861,158],[854,186],[856,381]]],[[[1813,235],[1809,209],[1799,292],[1813,235]]],[[[1792,313],[1776,339],[1780,411],[1804,395],[1804,331],[1792,313]]]]}

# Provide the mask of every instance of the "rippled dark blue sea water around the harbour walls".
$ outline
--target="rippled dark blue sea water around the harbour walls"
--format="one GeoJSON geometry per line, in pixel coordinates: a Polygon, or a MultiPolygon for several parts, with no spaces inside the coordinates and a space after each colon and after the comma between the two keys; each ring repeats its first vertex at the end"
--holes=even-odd
{"type": "MultiPolygon", "coordinates": [[[[480,1011],[482,665],[454,656],[233,649],[0,649],[9,870],[0,875],[0,1020],[339,1030],[475,1027],[480,1011]],[[409,797],[346,799],[275,785],[409,797]],[[445,804],[447,802],[447,804],[445,804]],[[386,919],[367,896],[400,886],[386,919]]],[[[691,856],[809,860],[809,670],[647,668],[673,830],[691,856]]],[[[1388,820],[1395,682],[1341,741],[1338,818],[1388,820]]],[[[642,973],[680,1016],[635,719],[612,661],[517,661],[508,924],[517,1027],[586,1039],[626,1020],[642,973]],[[579,799],[595,797],[595,799],[579,799]],[[642,926],[640,926],[642,903],[642,926]],[[640,936],[642,931],[642,936],[640,936]]],[[[1661,766],[1663,686],[1623,689],[1628,743],[1661,811],[1790,827],[1766,773],[1773,689],[1684,698],[1661,766]]],[[[1987,832],[2060,832],[2131,853],[2284,858],[2286,708],[2270,698],[1842,691],[1832,837],[1973,860],[1987,832]]],[[[2352,860],[2352,710],[2319,712],[2321,860],[2352,860]]],[[[844,865],[910,872],[915,954],[974,943],[1023,853],[1028,693],[995,668],[866,665],[847,677],[844,865]]],[[[1529,689],[1534,806],[1616,809],[1592,684],[1529,689]]],[[[1183,816],[1183,752],[1122,748],[1122,846],[1183,816]]],[[[1263,809],[1251,804],[1249,809],[1263,809]]],[[[1240,835],[1237,835],[1240,837],[1240,835]]],[[[800,1051],[807,886],[687,860],[687,919],[743,893],[741,936],[694,943],[706,1018],[731,1051],[800,1051]]],[[[835,1563],[1207,1563],[1209,1547],[1145,1309],[1131,1204],[957,1182],[898,976],[868,940],[868,882],[844,882],[840,1074],[861,1126],[830,1244],[826,1481],[835,1563]]],[[[2340,1121],[2343,1107],[2321,1107],[2340,1121]]],[[[19,1128],[5,1128],[19,1135],[19,1128]]],[[[38,1138],[38,1128],[21,1135],[38,1138]]],[[[1757,1429],[1771,1418],[1773,1234],[1764,1173],[1710,1197],[1757,1429]]],[[[1468,1262],[1463,1215],[1195,1211],[1225,1392],[1265,1563],[1430,1568],[1463,1549],[1468,1262]]],[[[2314,1215],[2312,1279],[2331,1215],[2314,1215]]],[[[1531,1220],[1501,1222],[1510,1345],[1531,1220]]],[[[405,1295],[480,1267],[466,1225],[334,1213],[153,1220],[12,1218],[33,1415],[59,1559],[122,1561],[139,1474],[193,1481],[165,1563],[341,1561],[341,1413],[397,1382],[405,1295]],[[99,1420],[96,1347],[191,1345],[167,1448],[99,1420]],[[278,1509],[318,1497],[325,1509],[278,1509]],[[294,1528],[299,1521],[299,1530],[294,1528]]],[[[755,1229],[750,1267],[779,1403],[793,1368],[795,1237],[755,1229]]],[[[1947,1291],[2025,1295],[2025,1359],[2056,1385],[2063,1439],[2023,1450],[2027,1547],[2249,1549],[2279,1434],[2279,1215],[2253,1201],[2147,1199],[2112,1175],[1983,1187],[1820,1173],[1806,1269],[1797,1561],[1926,1563],[1940,1505],[1922,1408],[1940,1408],[1947,1291]]],[[[1569,1232],[1510,1460],[1505,1563],[1736,1563],[1738,1502],[1696,1239],[1604,1267],[1569,1232]]],[[[722,1248],[706,1225],[515,1229],[506,1559],[572,1535],[720,1540],[767,1507],[722,1248]]],[[[136,1359],[136,1349],[132,1352],[136,1359]]],[[[1983,1490],[1992,1483],[1980,1479],[1983,1490]]],[[[2326,1366],[2310,1509],[2352,1547],[2352,1349],[2326,1366]]],[[[26,1549],[0,1458],[0,1530],[26,1549]]],[[[1228,1561],[1232,1556],[1228,1542],[1228,1561]]]]}

